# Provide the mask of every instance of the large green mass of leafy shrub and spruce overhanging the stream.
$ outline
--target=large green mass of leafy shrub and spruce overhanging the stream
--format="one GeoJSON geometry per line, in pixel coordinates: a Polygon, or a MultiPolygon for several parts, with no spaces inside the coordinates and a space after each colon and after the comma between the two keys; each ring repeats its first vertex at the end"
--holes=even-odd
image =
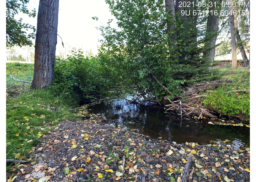
{"type": "MultiPolygon", "coordinates": [[[[213,35],[205,36],[207,19],[199,17],[198,25],[193,17],[182,19],[176,15],[175,31],[167,32],[167,18],[164,2],[161,1],[115,1],[107,4],[117,19],[120,30],[111,27],[99,29],[101,40],[98,59],[112,79],[126,86],[126,93],[141,93],[144,99],[161,99],[170,95],[157,80],[172,92],[171,98],[182,91],[182,86],[210,81],[219,75],[208,70],[209,48],[204,43],[213,35]],[[178,36],[174,42],[172,36],[178,36]],[[175,44],[175,45],[174,45],[175,44]]],[[[174,17],[171,17],[174,18],[174,17]]]]}

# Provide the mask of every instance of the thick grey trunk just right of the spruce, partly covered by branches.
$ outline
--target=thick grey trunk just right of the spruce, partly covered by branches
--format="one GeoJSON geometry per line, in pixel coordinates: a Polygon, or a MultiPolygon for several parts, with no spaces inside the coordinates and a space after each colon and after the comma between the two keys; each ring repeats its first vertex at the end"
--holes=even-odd
{"type": "MultiPolygon", "coordinates": [[[[213,6],[209,7],[209,12],[215,11],[216,7],[214,6],[215,0],[211,0],[213,6]]],[[[217,31],[218,31],[218,25],[219,25],[219,18],[217,15],[214,15],[214,13],[209,13],[210,15],[208,16],[207,20],[207,29],[206,29],[206,34],[208,36],[211,36],[211,40],[209,43],[209,47],[215,46],[216,39],[217,39],[217,31]]],[[[213,62],[214,61],[214,56],[215,56],[215,47],[212,48],[209,52],[206,53],[209,55],[209,61],[213,62]]],[[[208,69],[212,69],[212,66],[208,67],[208,69]]]]}

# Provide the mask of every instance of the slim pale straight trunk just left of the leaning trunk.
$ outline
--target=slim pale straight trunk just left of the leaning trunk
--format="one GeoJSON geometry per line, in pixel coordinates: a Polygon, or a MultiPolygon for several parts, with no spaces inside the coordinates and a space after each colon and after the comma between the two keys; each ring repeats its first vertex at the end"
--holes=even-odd
{"type": "MultiPolygon", "coordinates": [[[[228,0],[232,2],[232,0],[228,0]]],[[[231,54],[232,54],[232,69],[237,69],[237,59],[236,59],[236,32],[234,24],[234,15],[232,7],[229,7],[229,25],[230,25],[230,34],[231,34],[231,54]]]]}

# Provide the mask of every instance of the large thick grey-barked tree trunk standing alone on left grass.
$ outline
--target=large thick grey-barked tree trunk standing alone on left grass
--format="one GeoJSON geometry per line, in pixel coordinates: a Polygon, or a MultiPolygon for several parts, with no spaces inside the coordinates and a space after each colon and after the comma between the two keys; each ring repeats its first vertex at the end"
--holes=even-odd
{"type": "Polygon", "coordinates": [[[57,44],[59,0],[40,0],[37,15],[33,89],[52,84],[57,44]]]}

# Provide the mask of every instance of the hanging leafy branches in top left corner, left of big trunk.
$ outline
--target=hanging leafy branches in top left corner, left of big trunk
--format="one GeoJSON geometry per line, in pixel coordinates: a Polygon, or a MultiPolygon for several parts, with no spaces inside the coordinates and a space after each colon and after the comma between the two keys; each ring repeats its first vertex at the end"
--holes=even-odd
{"type": "Polygon", "coordinates": [[[27,14],[29,17],[36,16],[36,10],[29,12],[26,4],[29,0],[7,0],[6,1],[6,47],[12,47],[14,45],[32,45],[30,38],[34,39],[35,34],[27,34],[28,29],[36,31],[35,27],[22,22],[22,18],[16,20],[14,18],[19,12],[27,14]]]}

